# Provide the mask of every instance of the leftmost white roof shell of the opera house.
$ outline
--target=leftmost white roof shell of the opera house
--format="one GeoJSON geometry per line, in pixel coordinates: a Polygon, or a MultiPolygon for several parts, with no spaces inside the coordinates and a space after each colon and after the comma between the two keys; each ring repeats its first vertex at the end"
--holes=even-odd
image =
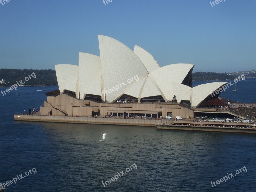
{"type": "Polygon", "coordinates": [[[60,92],[63,93],[64,90],[76,92],[79,77],[78,65],[55,65],[55,70],[60,92]]]}

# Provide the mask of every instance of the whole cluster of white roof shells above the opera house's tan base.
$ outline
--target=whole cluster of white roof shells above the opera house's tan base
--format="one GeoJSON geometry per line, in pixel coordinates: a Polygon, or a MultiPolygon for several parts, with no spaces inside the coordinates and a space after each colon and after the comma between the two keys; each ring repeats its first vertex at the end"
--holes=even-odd
{"type": "Polygon", "coordinates": [[[212,99],[211,93],[226,84],[214,82],[192,88],[194,65],[179,63],[160,67],[139,46],[132,51],[111,37],[98,35],[98,39],[100,57],[80,53],[78,65],[55,65],[60,94],[102,103],[184,102],[196,108],[207,98],[212,99]]]}

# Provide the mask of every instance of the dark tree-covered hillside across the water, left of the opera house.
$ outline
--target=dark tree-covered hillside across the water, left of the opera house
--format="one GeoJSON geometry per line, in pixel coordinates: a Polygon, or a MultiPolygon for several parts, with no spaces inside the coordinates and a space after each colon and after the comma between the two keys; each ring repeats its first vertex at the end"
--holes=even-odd
{"type": "MultiPolygon", "coordinates": [[[[0,80],[4,79],[7,85],[15,84],[16,81],[22,80],[24,82],[25,77],[36,74],[36,78],[31,77],[25,85],[57,85],[56,73],[52,69],[44,70],[34,70],[34,69],[0,69],[0,80]]],[[[3,85],[3,84],[0,84],[3,85]]]]}

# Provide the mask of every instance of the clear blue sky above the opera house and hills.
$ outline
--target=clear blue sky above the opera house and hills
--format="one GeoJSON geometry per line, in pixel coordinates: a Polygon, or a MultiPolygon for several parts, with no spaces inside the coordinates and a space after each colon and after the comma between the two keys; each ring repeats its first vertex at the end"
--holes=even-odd
{"type": "Polygon", "coordinates": [[[147,50],[160,66],[194,71],[256,69],[254,0],[11,0],[0,4],[0,68],[78,65],[100,55],[98,34],[147,50]]]}

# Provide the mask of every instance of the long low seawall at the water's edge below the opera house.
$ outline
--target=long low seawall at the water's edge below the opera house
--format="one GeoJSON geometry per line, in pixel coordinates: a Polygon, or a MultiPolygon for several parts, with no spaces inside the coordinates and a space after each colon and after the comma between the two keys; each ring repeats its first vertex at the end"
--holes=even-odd
{"type": "MultiPolygon", "coordinates": [[[[126,125],[126,126],[144,126],[156,127],[159,130],[180,130],[180,131],[207,131],[207,132],[229,132],[229,133],[250,133],[256,134],[255,128],[239,127],[218,127],[218,126],[193,126],[193,125],[173,125],[166,124],[167,120],[145,120],[145,119],[117,119],[117,118],[95,118],[95,117],[68,117],[68,116],[38,116],[38,115],[14,115],[15,121],[33,121],[33,122],[54,122],[54,123],[79,123],[79,124],[101,124],[101,125],[126,125]]],[[[181,123],[181,122],[180,122],[181,123]]],[[[187,122],[191,123],[191,122],[187,122]]],[[[198,122],[195,122],[198,124],[198,122]]],[[[203,124],[203,123],[200,123],[203,124]]],[[[211,123],[214,124],[214,123],[211,123]]],[[[216,124],[216,123],[215,123],[216,124]]],[[[221,123],[221,125],[231,125],[230,123],[221,123]]],[[[243,124],[250,126],[252,124],[243,124]]]]}

